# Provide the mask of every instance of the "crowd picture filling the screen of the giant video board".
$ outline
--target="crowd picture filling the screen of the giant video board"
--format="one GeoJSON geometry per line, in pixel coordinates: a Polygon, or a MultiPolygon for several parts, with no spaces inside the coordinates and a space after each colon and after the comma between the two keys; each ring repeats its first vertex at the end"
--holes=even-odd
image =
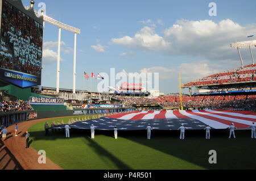
{"type": "Polygon", "coordinates": [[[6,1],[2,7],[1,68],[41,76],[43,26],[6,1]]]}

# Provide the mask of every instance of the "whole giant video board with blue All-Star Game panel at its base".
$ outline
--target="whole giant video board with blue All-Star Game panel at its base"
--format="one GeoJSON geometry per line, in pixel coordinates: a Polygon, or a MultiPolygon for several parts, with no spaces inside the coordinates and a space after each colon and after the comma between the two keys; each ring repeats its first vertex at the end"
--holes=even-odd
{"type": "Polygon", "coordinates": [[[1,11],[0,79],[19,87],[40,85],[42,19],[20,0],[2,0],[1,11]]]}

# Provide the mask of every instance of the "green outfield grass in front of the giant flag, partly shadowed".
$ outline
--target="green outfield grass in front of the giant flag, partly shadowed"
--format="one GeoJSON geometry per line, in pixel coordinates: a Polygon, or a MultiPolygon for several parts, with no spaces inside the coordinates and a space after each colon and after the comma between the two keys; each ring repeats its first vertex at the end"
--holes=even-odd
{"type": "Polygon", "coordinates": [[[205,140],[204,131],[187,131],[184,141],[177,131],[152,131],[151,140],[146,130],[119,131],[117,140],[114,131],[96,131],[92,140],[89,130],[75,129],[71,138],[65,138],[64,131],[46,137],[45,123],[29,129],[31,146],[45,150],[63,169],[256,169],[256,139],[250,138],[250,131],[236,131],[236,140],[229,140],[226,130],[212,131],[211,140],[205,140]],[[209,150],[217,151],[217,164],[209,164],[209,150]]]}

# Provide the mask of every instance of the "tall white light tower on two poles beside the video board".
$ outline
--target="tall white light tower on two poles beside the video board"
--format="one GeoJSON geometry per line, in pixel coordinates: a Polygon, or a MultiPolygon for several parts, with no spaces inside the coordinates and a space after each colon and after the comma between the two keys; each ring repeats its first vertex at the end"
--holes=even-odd
{"type": "MultiPolygon", "coordinates": [[[[38,12],[35,11],[36,14],[39,15],[38,12]]],[[[81,33],[81,30],[79,28],[75,28],[72,26],[69,26],[67,24],[61,23],[53,18],[50,18],[49,16],[44,14],[44,10],[42,10],[41,14],[39,16],[43,16],[43,21],[52,24],[53,26],[56,26],[59,28],[59,38],[58,38],[58,54],[57,54],[57,80],[56,80],[56,92],[59,93],[60,89],[60,38],[61,38],[61,29],[71,31],[75,33],[75,39],[74,39],[74,59],[73,59],[73,94],[76,93],[76,35],[81,33]]]]}

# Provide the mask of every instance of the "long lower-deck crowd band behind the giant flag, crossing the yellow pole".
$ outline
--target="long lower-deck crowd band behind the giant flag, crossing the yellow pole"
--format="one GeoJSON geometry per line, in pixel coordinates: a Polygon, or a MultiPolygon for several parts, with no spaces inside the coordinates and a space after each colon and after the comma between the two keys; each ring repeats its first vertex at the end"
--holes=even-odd
{"type": "MultiPolygon", "coordinates": [[[[179,107],[179,96],[158,98],[123,98],[116,96],[123,104],[159,104],[163,107],[179,107]]],[[[183,107],[187,108],[245,108],[255,109],[256,95],[182,96],[183,107]]]]}

